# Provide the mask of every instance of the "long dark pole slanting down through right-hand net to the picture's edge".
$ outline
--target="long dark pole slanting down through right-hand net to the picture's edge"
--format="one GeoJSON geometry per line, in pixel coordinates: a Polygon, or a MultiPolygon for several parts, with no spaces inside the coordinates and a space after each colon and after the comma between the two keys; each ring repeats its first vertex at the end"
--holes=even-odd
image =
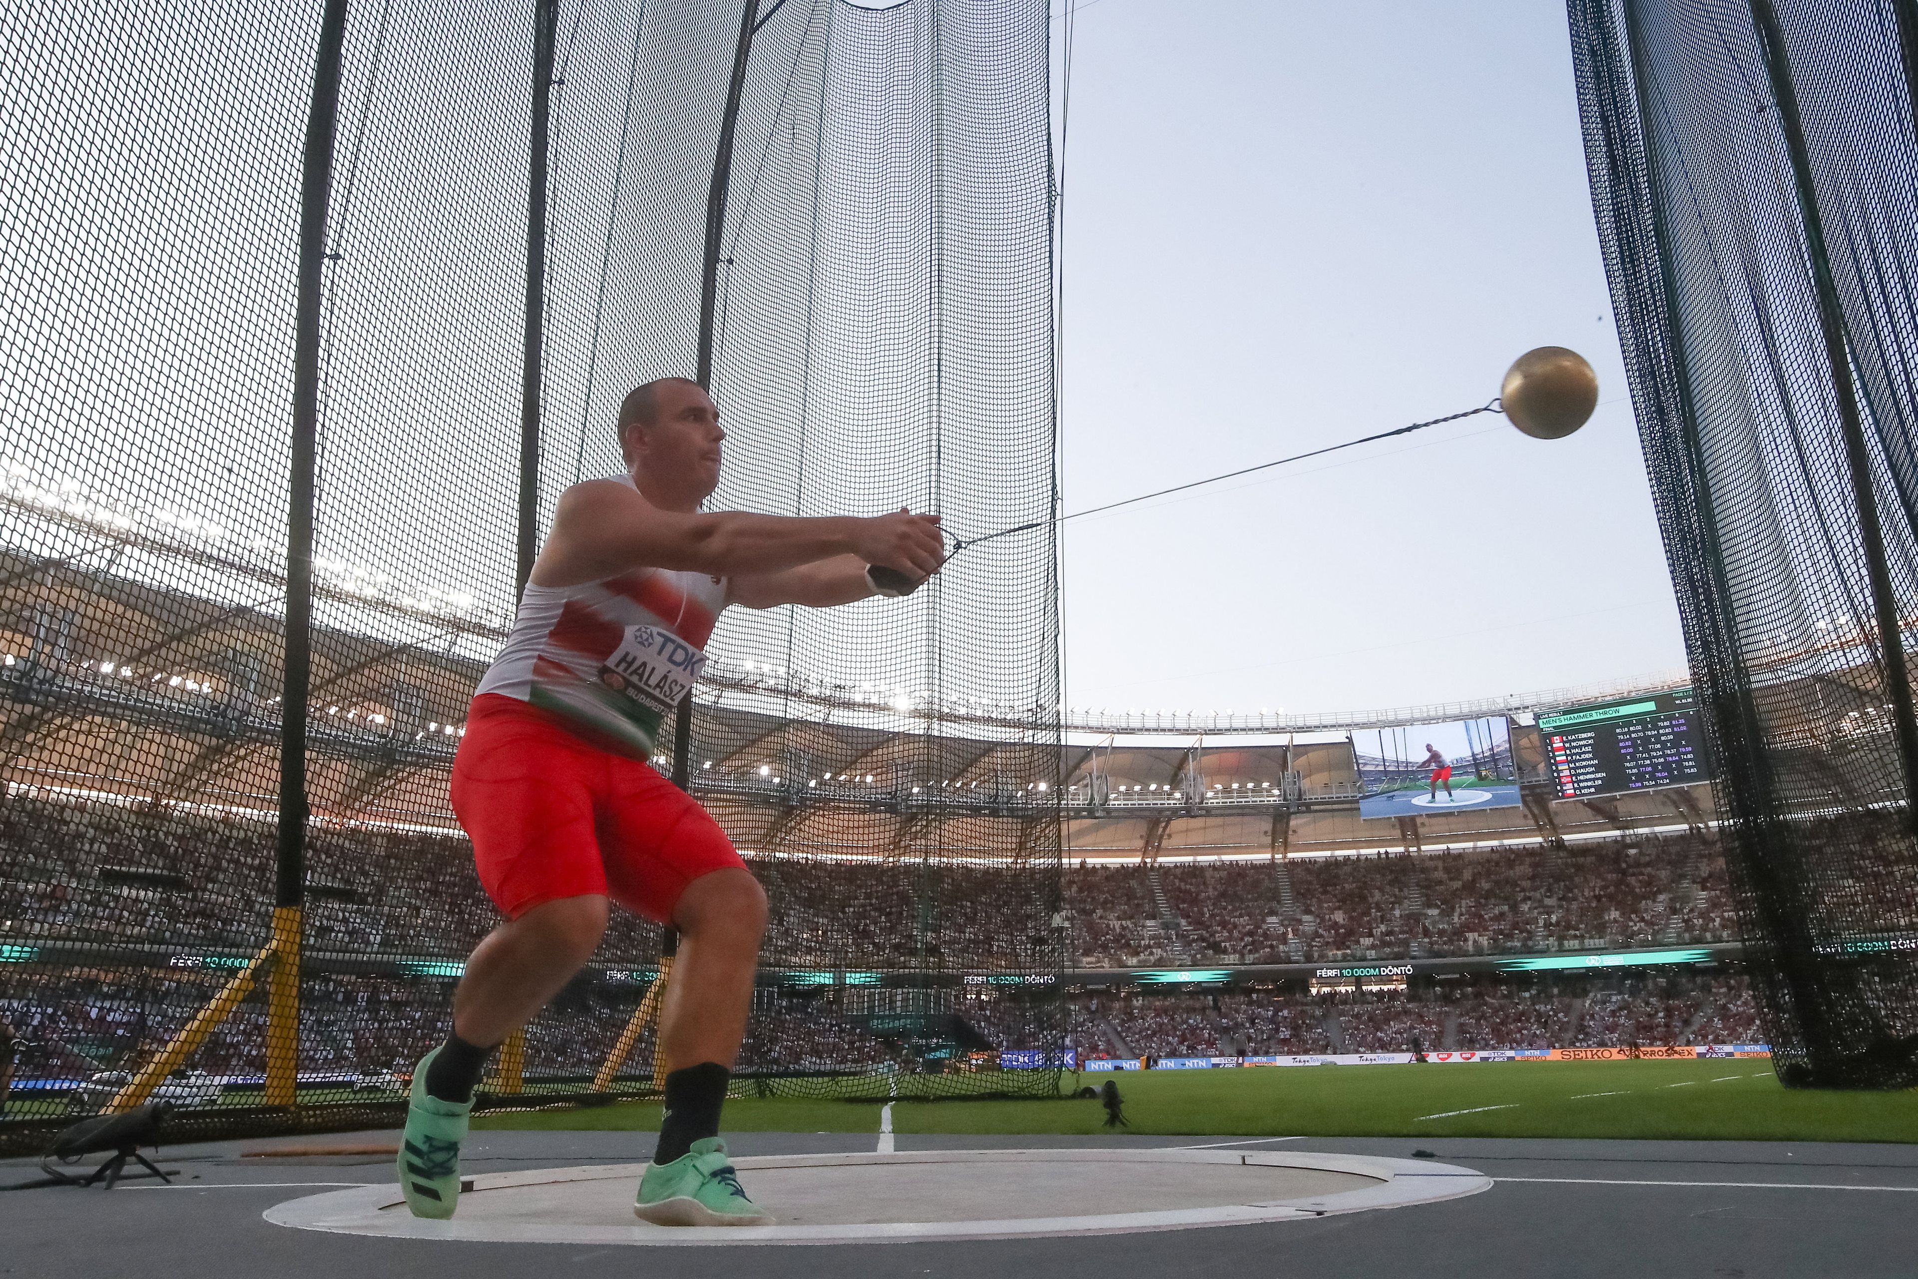
{"type": "Polygon", "coordinates": [[[1805,228],[1805,257],[1811,261],[1813,286],[1818,297],[1818,328],[1824,336],[1824,359],[1832,372],[1832,395],[1837,401],[1837,426],[1845,439],[1845,468],[1851,479],[1851,500],[1859,516],[1859,541],[1864,548],[1864,575],[1872,587],[1872,617],[1878,623],[1878,642],[1885,663],[1885,692],[1891,696],[1891,733],[1899,744],[1899,763],[1905,773],[1905,825],[1918,825],[1918,715],[1912,713],[1910,671],[1905,665],[1905,635],[1899,621],[1897,593],[1891,587],[1891,564],[1885,558],[1885,535],[1878,522],[1878,495],[1872,487],[1872,454],[1864,443],[1864,422],[1859,414],[1859,393],[1851,382],[1851,355],[1845,339],[1845,313],[1832,282],[1832,257],[1824,244],[1824,219],[1818,213],[1818,188],[1811,176],[1811,151],[1805,146],[1805,123],[1799,117],[1797,84],[1791,79],[1789,52],[1778,10],[1772,0],[1751,0],[1751,21],[1765,52],[1765,73],[1770,79],[1772,102],[1778,107],[1778,128],[1791,157],[1791,186],[1797,194],[1799,224],[1805,228]]]}

